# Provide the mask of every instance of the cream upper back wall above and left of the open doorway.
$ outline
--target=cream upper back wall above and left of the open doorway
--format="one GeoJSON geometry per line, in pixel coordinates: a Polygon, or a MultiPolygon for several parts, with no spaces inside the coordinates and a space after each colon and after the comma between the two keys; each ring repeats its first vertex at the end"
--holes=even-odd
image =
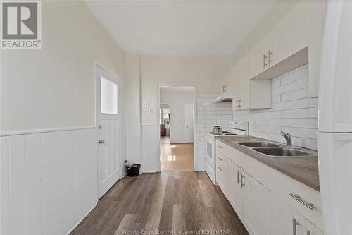
{"type": "Polygon", "coordinates": [[[197,93],[220,92],[220,78],[229,71],[231,55],[215,56],[141,56],[142,124],[158,123],[157,83],[195,82],[197,93]]]}

